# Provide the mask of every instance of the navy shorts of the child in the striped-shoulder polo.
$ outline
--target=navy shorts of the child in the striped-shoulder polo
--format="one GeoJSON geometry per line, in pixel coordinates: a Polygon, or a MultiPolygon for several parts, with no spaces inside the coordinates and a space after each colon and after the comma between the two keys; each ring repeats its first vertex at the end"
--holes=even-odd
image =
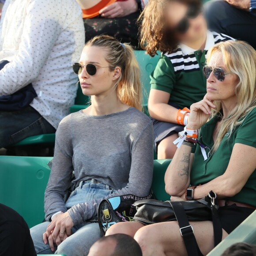
{"type": "Polygon", "coordinates": [[[151,119],[153,121],[153,127],[154,127],[154,150],[156,151],[156,153],[157,153],[158,144],[163,139],[173,135],[174,133],[179,133],[184,130],[183,125],[162,122],[159,120],[155,120],[153,118],[151,119]]]}

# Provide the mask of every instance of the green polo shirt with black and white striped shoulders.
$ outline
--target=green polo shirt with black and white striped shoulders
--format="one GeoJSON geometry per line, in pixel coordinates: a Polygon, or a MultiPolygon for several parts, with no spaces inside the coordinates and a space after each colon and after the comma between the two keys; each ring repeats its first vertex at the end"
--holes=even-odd
{"type": "Polygon", "coordinates": [[[151,89],[168,92],[169,105],[180,109],[189,108],[193,103],[199,102],[206,94],[203,66],[207,50],[226,40],[233,38],[208,31],[203,52],[181,44],[171,53],[162,53],[151,74],[151,89]]]}

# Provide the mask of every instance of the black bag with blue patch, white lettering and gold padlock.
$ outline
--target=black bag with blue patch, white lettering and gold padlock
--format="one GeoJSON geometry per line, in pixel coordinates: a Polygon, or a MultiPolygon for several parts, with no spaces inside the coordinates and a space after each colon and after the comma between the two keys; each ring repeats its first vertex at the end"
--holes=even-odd
{"type": "Polygon", "coordinates": [[[154,198],[153,191],[144,198],[134,195],[124,195],[103,199],[98,205],[98,224],[101,236],[105,236],[106,231],[113,224],[133,221],[136,213],[136,207],[133,206],[133,203],[136,200],[151,198],[154,198]]]}

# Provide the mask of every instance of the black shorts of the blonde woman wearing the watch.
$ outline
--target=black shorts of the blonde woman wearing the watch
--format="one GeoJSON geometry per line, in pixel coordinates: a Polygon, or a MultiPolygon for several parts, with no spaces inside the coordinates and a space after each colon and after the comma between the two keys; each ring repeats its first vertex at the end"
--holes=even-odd
{"type": "Polygon", "coordinates": [[[239,226],[249,215],[255,211],[248,207],[238,207],[236,204],[219,207],[219,218],[222,229],[230,234],[237,226],[239,226]]]}

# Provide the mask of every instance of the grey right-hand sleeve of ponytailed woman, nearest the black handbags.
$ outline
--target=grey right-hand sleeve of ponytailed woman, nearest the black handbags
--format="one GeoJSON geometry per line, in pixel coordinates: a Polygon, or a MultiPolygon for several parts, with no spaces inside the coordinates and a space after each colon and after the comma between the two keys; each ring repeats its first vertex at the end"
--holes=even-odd
{"type": "MultiPolygon", "coordinates": [[[[140,197],[147,196],[152,184],[153,154],[153,125],[150,121],[132,145],[132,165],[127,186],[106,198],[126,194],[133,194],[140,197]],[[147,191],[147,194],[145,194],[145,191],[147,191]]],[[[87,219],[96,216],[98,204],[102,199],[77,204],[70,208],[68,213],[74,225],[86,222],[87,219]]]]}

